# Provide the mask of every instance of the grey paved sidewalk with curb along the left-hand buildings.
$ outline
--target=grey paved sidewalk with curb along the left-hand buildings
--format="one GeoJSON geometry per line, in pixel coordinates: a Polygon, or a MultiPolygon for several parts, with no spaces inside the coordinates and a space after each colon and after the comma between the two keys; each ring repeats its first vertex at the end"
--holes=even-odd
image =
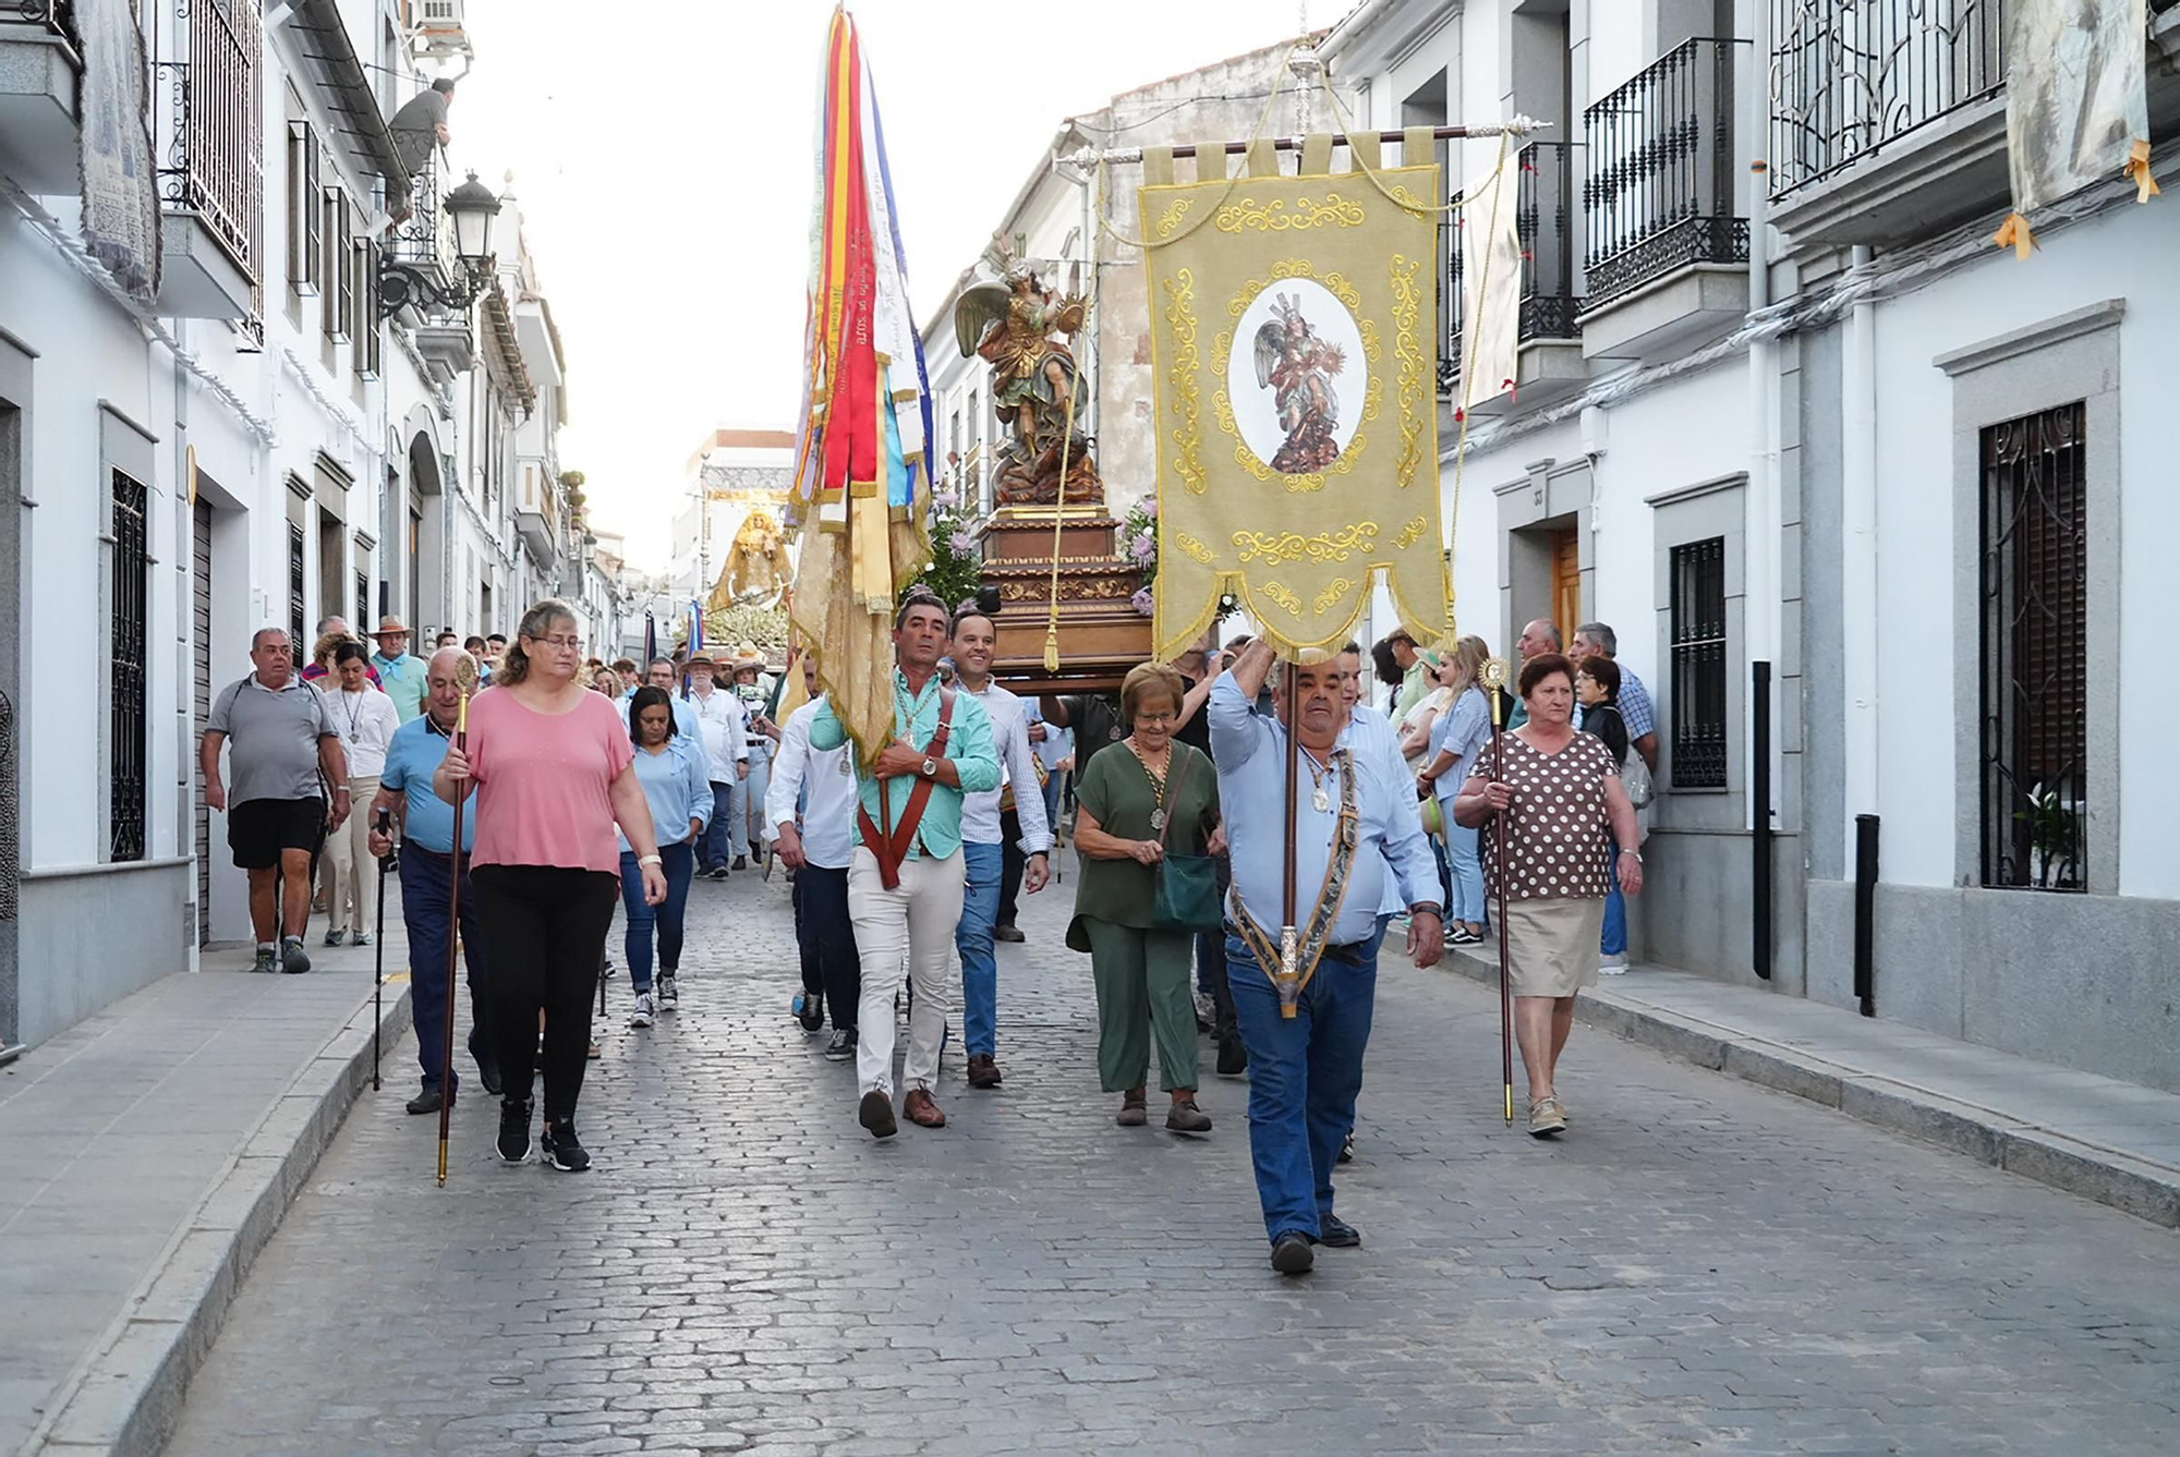
{"type": "MultiPolygon", "coordinates": [[[[408,968],[399,910],[388,975],[408,968]]],[[[0,1073],[0,1450],[157,1450],[288,1200],[371,1086],[371,966],[207,951],[0,1073]]],[[[386,988],[382,1097],[405,975],[386,988]]],[[[397,1082],[399,1077],[399,1082],[397,1082]]]]}

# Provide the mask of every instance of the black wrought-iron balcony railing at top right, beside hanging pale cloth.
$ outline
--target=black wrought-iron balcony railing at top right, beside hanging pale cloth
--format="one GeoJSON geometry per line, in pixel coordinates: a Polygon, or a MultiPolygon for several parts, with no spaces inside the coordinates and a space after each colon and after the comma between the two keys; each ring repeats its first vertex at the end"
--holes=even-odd
{"type": "Polygon", "coordinates": [[[1997,96],[2001,0],[1764,0],[1772,7],[1770,192],[1785,196],[1997,96]]]}

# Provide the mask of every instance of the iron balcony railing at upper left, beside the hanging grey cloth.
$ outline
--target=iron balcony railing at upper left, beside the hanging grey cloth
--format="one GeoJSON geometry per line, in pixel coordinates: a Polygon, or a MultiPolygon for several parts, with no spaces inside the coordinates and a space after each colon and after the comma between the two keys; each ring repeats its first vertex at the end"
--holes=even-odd
{"type": "Polygon", "coordinates": [[[262,284],[264,133],[257,0],[179,0],[187,59],[159,61],[159,198],[192,212],[262,284]]]}

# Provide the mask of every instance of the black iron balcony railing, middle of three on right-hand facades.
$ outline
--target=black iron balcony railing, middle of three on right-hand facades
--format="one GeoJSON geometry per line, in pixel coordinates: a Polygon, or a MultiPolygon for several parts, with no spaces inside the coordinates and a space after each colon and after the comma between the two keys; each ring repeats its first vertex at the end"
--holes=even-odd
{"type": "Polygon", "coordinates": [[[1681,41],[1583,111],[1587,308],[1692,264],[1748,262],[1733,190],[1733,68],[1746,44],[1681,41]]]}

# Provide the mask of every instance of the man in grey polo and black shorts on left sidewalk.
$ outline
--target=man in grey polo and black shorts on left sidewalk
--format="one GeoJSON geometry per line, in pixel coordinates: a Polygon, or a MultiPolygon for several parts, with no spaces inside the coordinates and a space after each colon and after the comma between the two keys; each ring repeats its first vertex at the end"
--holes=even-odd
{"type": "Polygon", "coordinates": [[[227,848],[251,875],[251,927],[257,962],[251,971],[310,971],[303,927],[310,920],[310,866],[327,827],[349,818],[349,761],[318,689],[294,672],[286,628],[251,637],[249,678],[229,683],[211,702],[198,750],[205,803],[227,811],[227,848]],[[220,748],[231,744],[229,783],[220,748]],[[327,811],[325,785],[334,785],[327,811]],[[277,958],[275,958],[277,938],[277,958]]]}

